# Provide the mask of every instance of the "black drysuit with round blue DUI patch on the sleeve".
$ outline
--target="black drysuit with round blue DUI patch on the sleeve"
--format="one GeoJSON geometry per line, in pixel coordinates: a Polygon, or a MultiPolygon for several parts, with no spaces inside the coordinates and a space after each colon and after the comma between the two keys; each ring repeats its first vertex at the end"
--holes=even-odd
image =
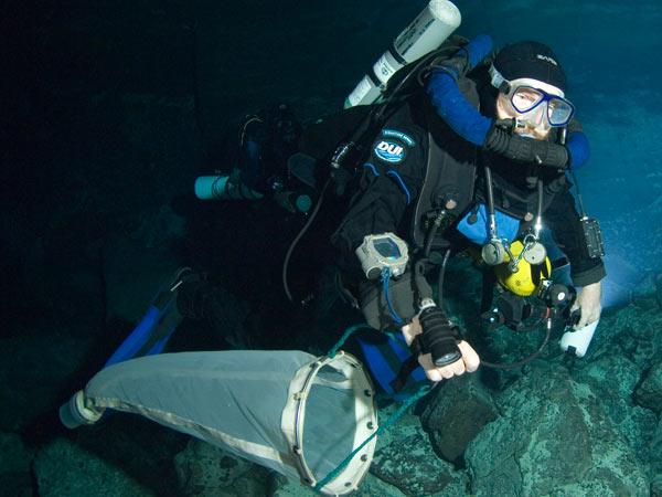
{"type": "MultiPolygon", "coordinates": [[[[468,99],[478,102],[476,94],[468,99]]],[[[430,194],[441,194],[444,189],[448,190],[448,179],[442,188],[426,184],[426,181],[444,182],[444,178],[435,177],[430,168],[442,167],[441,163],[447,159],[452,159],[460,165],[459,168],[455,168],[453,178],[458,177],[458,170],[459,176],[465,176],[463,183],[459,187],[460,192],[468,186],[470,188],[469,194],[466,195],[468,198],[457,208],[461,211],[458,220],[474,205],[487,204],[482,173],[484,161],[489,161],[492,171],[494,208],[523,220],[521,231],[531,225],[527,221],[530,222],[532,213],[536,213],[537,191],[531,187],[536,184],[535,178],[541,178],[545,186],[543,222],[567,255],[574,284],[586,286],[605,277],[602,261],[589,258],[587,255],[580,218],[575,208],[575,199],[569,192],[572,184],[564,171],[516,163],[498,156],[490,157],[479,147],[456,135],[433,113],[426,97],[403,104],[375,138],[371,155],[363,166],[362,193],[351,205],[332,237],[332,242],[342,254],[341,268],[353,273],[354,276],[360,274],[361,268],[354,251],[369,234],[393,232],[405,240],[410,250],[412,245],[420,247],[420,240],[414,240],[416,228],[420,228],[420,216],[425,213],[420,200],[424,201],[423,205],[433,205],[429,200],[426,203],[425,199],[420,198],[421,192],[427,198],[430,194]],[[436,145],[431,145],[433,141],[436,145]],[[428,161],[434,146],[437,146],[437,155],[439,149],[442,155],[437,162],[428,161]]],[[[568,126],[568,134],[575,129],[580,129],[576,121],[568,126]]],[[[451,228],[449,231],[455,230],[451,228]]],[[[445,236],[449,240],[453,236],[457,239],[457,233],[447,233],[445,236]]],[[[362,297],[365,297],[370,292],[365,289],[365,276],[363,281],[362,297]]],[[[373,287],[380,285],[378,281],[370,283],[373,287]]],[[[415,292],[414,285],[405,286],[415,292]]],[[[414,295],[410,302],[415,306],[414,295]]],[[[366,314],[364,304],[361,302],[366,314]]],[[[382,321],[382,325],[386,321],[382,321]]]]}

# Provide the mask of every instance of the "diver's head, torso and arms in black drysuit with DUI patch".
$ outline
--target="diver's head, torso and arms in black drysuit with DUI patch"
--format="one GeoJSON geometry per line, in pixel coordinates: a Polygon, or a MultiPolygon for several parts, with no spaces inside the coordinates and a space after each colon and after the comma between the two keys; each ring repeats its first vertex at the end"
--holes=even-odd
{"type": "MultiPolygon", "coordinates": [[[[586,162],[589,147],[558,57],[534,41],[509,44],[482,62],[472,61],[478,51],[471,49],[433,62],[425,92],[381,123],[357,168],[359,193],[332,237],[344,286],[367,322],[402,329],[433,381],[474,371],[481,360],[431,298],[430,251],[448,257],[473,247],[484,266],[501,269],[500,292],[555,300],[542,306],[547,316],[556,304],[569,304],[574,329],[595,329],[606,276],[597,221],[583,204],[577,212],[566,178],[586,162]],[[551,272],[545,228],[581,287],[576,298],[573,288],[543,285],[551,272]]],[[[493,305],[488,290],[482,310],[490,322],[516,327],[531,316],[525,300],[500,297],[493,305]]]]}

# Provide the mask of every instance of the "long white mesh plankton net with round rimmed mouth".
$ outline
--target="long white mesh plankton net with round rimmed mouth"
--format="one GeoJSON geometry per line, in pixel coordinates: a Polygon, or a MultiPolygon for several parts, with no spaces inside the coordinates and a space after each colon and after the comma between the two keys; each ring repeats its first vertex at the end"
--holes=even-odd
{"type": "Polygon", "coordinates": [[[373,459],[376,436],[364,442],[377,431],[374,394],[361,362],[343,351],[164,353],[102,370],[61,419],[76,427],[105,409],[141,414],[305,485],[323,483],[322,494],[344,495],[373,459]]]}

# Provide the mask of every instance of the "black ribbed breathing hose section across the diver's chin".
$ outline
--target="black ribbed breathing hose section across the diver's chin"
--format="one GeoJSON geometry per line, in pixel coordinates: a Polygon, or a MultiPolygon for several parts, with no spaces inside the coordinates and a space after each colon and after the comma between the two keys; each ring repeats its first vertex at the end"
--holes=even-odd
{"type": "Polygon", "coordinates": [[[517,162],[538,163],[555,169],[565,169],[569,159],[568,149],[563,145],[523,137],[494,124],[488,131],[484,148],[517,162]]]}

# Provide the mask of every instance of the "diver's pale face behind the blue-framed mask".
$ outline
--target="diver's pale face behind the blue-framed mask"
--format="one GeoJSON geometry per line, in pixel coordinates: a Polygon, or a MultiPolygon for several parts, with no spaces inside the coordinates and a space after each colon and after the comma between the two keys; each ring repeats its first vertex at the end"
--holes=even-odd
{"type": "Polygon", "coordinates": [[[549,126],[549,120],[547,118],[549,110],[549,102],[543,102],[540,105],[536,105],[531,112],[527,113],[517,112],[515,109],[515,106],[517,106],[519,108],[523,108],[527,107],[527,104],[534,103],[535,98],[537,98],[534,88],[542,89],[543,92],[555,96],[563,96],[563,92],[547,83],[543,83],[537,80],[531,80],[528,77],[513,80],[510,82],[510,92],[500,92],[499,97],[496,98],[496,118],[516,118],[521,123],[525,124],[524,128],[516,128],[516,133],[532,138],[536,138],[538,140],[547,138],[547,135],[552,129],[552,127],[549,126]],[[527,88],[532,89],[528,91],[527,88]]]}

